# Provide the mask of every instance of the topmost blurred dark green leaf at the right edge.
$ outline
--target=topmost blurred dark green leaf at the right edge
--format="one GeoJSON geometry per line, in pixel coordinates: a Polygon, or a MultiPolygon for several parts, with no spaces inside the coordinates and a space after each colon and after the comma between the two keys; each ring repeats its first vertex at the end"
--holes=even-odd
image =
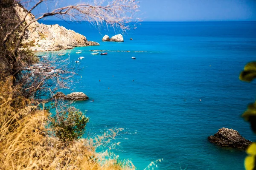
{"type": "Polygon", "coordinates": [[[244,71],[239,75],[239,79],[245,82],[251,82],[256,78],[256,62],[249,62],[244,66],[244,71]]]}

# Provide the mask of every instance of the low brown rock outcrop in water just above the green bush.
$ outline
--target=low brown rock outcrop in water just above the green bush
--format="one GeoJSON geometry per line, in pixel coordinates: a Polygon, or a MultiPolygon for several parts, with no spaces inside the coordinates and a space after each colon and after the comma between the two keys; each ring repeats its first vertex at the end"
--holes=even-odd
{"type": "Polygon", "coordinates": [[[89,99],[88,96],[86,96],[86,94],[84,94],[83,92],[73,92],[71,94],[67,94],[65,95],[62,92],[57,92],[52,98],[57,98],[57,99],[65,99],[65,100],[87,100],[89,99]]]}

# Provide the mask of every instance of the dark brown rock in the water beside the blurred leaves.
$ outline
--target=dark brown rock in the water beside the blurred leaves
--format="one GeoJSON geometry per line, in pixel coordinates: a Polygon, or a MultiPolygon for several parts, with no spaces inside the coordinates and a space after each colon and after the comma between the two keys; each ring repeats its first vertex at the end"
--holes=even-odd
{"type": "Polygon", "coordinates": [[[222,127],[214,136],[208,137],[209,142],[218,144],[222,147],[232,147],[246,150],[252,143],[242,137],[238,131],[222,127]]]}

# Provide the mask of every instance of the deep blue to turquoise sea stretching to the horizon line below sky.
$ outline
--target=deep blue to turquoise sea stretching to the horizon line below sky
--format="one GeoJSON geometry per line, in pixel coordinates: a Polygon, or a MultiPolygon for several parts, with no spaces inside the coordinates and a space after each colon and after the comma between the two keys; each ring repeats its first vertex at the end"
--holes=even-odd
{"type": "Polygon", "coordinates": [[[119,32],[88,23],[42,23],[58,23],[100,43],[65,52],[70,62],[85,57],[73,88],[94,99],[76,102],[88,110],[87,132],[137,131],[119,139],[124,152],[116,153],[122,159],[131,159],[138,170],[161,158],[155,170],[244,168],[245,152],[218,147],[207,137],[228,127],[256,139],[241,118],[255,101],[256,82],[239,80],[244,65],[256,59],[256,22],[142,22],[124,34],[124,42],[102,42],[105,34],[119,32]],[[90,50],[108,50],[108,55],[90,50]]]}

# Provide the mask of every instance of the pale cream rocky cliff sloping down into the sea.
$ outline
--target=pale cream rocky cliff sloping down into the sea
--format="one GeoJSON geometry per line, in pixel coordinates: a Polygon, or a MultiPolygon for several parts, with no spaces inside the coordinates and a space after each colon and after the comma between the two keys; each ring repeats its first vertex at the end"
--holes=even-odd
{"type": "MultiPolygon", "coordinates": [[[[25,17],[26,9],[17,5],[15,10],[20,18],[25,17]]],[[[26,23],[30,23],[34,19],[35,16],[29,14],[26,17],[26,23]]],[[[55,51],[88,45],[99,45],[99,43],[88,41],[83,35],[58,24],[45,25],[38,22],[29,26],[23,39],[23,46],[29,47],[32,51],[55,51]]]]}

